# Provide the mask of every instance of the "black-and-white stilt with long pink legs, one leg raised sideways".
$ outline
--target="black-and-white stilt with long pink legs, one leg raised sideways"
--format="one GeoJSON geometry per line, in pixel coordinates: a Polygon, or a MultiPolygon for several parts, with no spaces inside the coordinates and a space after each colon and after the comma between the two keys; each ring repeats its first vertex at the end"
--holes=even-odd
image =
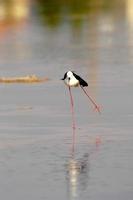
{"type": "MultiPolygon", "coordinates": [[[[70,99],[71,99],[71,106],[72,106],[72,114],[74,115],[74,110],[73,110],[73,98],[72,98],[72,93],[71,93],[71,87],[78,87],[80,86],[83,92],[87,95],[91,103],[94,105],[95,110],[97,110],[100,113],[100,108],[99,106],[95,103],[95,101],[92,99],[90,95],[87,94],[86,90],[84,87],[88,86],[88,83],[83,80],[79,75],[75,74],[72,71],[68,71],[64,74],[64,77],[61,79],[64,81],[64,83],[68,86],[69,88],[69,93],[70,93],[70,99]]],[[[75,127],[75,122],[73,118],[73,126],[75,127]]]]}

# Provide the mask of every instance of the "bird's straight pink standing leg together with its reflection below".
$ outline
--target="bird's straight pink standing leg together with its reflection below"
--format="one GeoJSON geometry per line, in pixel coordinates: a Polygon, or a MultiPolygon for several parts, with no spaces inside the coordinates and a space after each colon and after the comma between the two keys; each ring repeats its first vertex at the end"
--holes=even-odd
{"type": "Polygon", "coordinates": [[[69,86],[69,94],[70,94],[70,101],[71,101],[71,112],[72,112],[72,128],[73,128],[73,141],[72,141],[72,153],[74,153],[74,147],[75,147],[75,129],[76,129],[76,124],[75,124],[75,116],[74,116],[74,102],[73,102],[73,97],[71,93],[71,88],[69,86]]]}

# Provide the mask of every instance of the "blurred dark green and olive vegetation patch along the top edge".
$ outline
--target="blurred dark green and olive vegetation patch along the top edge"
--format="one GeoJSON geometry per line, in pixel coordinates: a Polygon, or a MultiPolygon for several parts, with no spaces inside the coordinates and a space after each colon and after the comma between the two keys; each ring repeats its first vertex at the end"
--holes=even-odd
{"type": "Polygon", "coordinates": [[[36,9],[45,24],[56,27],[64,18],[81,25],[85,16],[119,8],[124,2],[125,0],[37,0],[36,9]]]}

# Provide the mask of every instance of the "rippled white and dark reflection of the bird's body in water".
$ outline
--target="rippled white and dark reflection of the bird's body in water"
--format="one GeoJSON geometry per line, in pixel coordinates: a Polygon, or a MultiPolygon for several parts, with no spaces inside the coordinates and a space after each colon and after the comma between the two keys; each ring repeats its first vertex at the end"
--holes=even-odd
{"type": "Polygon", "coordinates": [[[90,172],[90,157],[95,155],[98,149],[99,144],[96,141],[93,149],[87,153],[84,153],[83,156],[79,159],[76,158],[75,151],[73,149],[71,157],[66,165],[68,199],[77,199],[87,188],[90,172]]]}

